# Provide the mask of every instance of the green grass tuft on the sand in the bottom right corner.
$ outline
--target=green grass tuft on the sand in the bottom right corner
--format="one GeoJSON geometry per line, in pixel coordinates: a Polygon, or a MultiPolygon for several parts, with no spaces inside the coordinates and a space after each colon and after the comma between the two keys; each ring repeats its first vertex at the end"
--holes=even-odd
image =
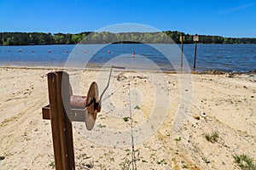
{"type": "Polygon", "coordinates": [[[253,158],[247,156],[247,155],[235,155],[233,156],[235,159],[235,162],[238,167],[241,167],[243,170],[255,170],[256,169],[256,164],[253,162],[253,158]]]}

